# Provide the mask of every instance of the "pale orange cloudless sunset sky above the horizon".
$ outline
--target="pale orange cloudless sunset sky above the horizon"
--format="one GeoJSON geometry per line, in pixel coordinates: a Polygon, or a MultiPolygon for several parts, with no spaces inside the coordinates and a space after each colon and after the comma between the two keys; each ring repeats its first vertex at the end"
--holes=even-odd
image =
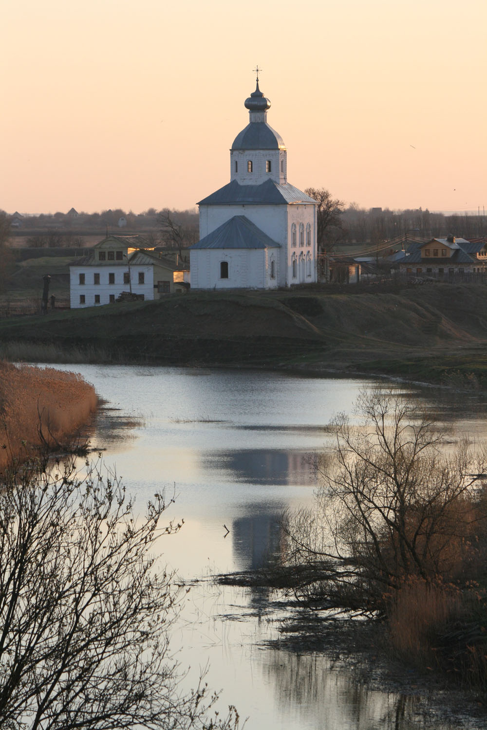
{"type": "Polygon", "coordinates": [[[188,208],[255,88],[288,180],[363,207],[487,207],[485,0],[3,0],[0,208],[188,208]]]}

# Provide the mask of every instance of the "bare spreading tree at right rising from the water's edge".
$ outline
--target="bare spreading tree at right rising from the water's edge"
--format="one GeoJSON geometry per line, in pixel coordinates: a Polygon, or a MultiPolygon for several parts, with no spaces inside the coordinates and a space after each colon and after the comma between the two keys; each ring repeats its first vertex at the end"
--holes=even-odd
{"type": "Polygon", "coordinates": [[[474,530],[486,529],[473,491],[486,455],[463,445],[445,456],[432,421],[391,394],[366,391],[358,412],[358,428],[334,422],[315,508],[288,517],[287,560],[305,568],[304,599],[377,610],[408,577],[465,577],[474,530]]]}

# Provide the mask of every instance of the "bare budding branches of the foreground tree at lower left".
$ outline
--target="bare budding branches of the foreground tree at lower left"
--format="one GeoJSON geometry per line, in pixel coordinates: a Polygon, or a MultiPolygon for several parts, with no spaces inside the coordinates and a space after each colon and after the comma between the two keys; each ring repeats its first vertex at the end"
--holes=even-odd
{"type": "Polygon", "coordinates": [[[31,730],[237,728],[208,717],[206,685],[184,694],[169,652],[180,589],[150,551],[164,499],[145,518],[112,476],[74,462],[9,472],[0,491],[0,726],[31,730]]]}

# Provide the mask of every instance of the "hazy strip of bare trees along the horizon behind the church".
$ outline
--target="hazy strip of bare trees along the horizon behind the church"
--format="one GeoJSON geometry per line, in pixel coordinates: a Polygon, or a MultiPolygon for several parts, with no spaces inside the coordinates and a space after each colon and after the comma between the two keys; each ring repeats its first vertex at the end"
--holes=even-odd
{"type": "MultiPolygon", "coordinates": [[[[427,208],[390,210],[364,208],[357,203],[348,206],[334,198],[326,188],[307,188],[305,191],[318,201],[318,250],[331,252],[342,244],[380,244],[400,238],[486,236],[484,215],[445,215],[427,208]]],[[[0,211],[1,231],[7,229],[7,238],[14,234],[28,237],[32,247],[72,247],[83,245],[83,235],[142,234],[150,246],[165,246],[182,250],[199,238],[199,215],[195,209],[176,210],[151,207],[135,214],[121,208],[93,213],[26,215],[15,220],[0,211]],[[121,225],[120,225],[121,222],[121,225]],[[9,229],[9,230],[8,230],[9,229]]],[[[4,231],[5,232],[5,231],[4,231]]]]}

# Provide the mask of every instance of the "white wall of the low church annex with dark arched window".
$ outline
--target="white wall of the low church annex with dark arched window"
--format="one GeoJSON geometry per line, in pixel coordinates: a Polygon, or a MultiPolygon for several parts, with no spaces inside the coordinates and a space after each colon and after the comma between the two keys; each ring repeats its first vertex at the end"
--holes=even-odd
{"type": "Polygon", "coordinates": [[[269,289],[278,285],[280,249],[202,248],[190,251],[192,289],[269,289]],[[271,261],[275,278],[271,278],[271,261]],[[229,264],[229,277],[221,278],[221,262],[229,264]]]}

